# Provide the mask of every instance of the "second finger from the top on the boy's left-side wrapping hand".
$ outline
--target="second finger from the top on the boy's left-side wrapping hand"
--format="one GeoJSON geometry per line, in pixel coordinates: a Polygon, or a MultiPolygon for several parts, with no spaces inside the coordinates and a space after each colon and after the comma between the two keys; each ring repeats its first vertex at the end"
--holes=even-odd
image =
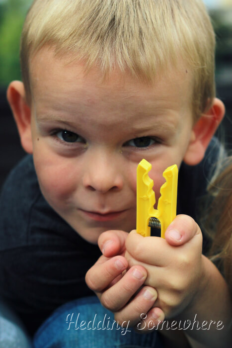
{"type": "Polygon", "coordinates": [[[127,268],[127,266],[128,262],[122,256],[106,259],[103,263],[97,261],[87,271],[85,282],[91,290],[98,292],[102,291],[108,287],[109,284],[127,268]]]}

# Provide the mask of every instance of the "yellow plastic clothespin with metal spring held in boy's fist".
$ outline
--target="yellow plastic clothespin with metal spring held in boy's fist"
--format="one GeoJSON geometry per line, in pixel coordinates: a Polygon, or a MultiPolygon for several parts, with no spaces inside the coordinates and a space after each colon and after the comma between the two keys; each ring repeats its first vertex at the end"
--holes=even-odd
{"type": "Polygon", "coordinates": [[[147,237],[151,235],[151,227],[161,227],[161,237],[164,238],[167,227],[176,217],[178,168],[173,165],[163,172],[166,182],[160,188],[157,209],[154,209],[153,180],[148,175],[151,169],[151,163],[146,160],[142,160],[137,168],[136,230],[147,237]]]}

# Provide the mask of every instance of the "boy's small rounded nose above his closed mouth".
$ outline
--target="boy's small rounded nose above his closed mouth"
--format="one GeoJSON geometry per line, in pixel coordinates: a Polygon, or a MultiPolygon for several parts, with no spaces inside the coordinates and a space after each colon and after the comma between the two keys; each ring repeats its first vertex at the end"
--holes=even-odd
{"type": "Polygon", "coordinates": [[[83,185],[91,191],[106,193],[119,191],[123,187],[123,175],[115,158],[98,154],[91,156],[85,163],[83,185]]]}

